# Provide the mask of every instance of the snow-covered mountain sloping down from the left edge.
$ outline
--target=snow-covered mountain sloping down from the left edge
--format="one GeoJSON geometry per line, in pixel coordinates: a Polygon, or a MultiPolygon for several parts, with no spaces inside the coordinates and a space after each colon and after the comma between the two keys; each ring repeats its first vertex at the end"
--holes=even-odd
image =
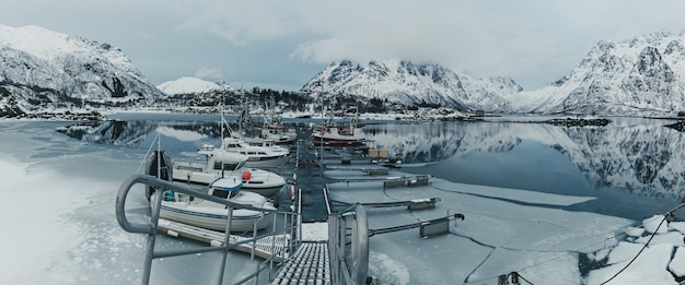
{"type": "Polygon", "coordinates": [[[38,26],[0,25],[0,117],[164,96],[119,48],[38,26]]]}

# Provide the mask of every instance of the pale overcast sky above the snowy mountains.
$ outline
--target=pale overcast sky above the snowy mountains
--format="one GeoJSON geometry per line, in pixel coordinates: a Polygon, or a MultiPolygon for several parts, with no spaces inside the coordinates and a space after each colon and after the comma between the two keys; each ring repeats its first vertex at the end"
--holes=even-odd
{"type": "Polygon", "coordinates": [[[21,0],[0,24],[123,49],[158,85],[182,76],[299,90],[342,59],[433,62],[533,90],[600,39],[685,29],[682,0],[21,0]]]}

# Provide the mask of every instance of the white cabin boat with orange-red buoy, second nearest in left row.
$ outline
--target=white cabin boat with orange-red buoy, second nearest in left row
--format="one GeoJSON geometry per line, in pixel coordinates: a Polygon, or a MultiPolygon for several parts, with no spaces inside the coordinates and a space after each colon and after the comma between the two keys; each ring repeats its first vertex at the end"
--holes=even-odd
{"type": "Polygon", "coordinates": [[[265,197],[276,194],[285,185],[286,179],[271,171],[246,167],[247,156],[214,149],[212,144],[204,144],[198,152],[205,162],[173,162],[172,177],[177,183],[207,187],[217,178],[236,178],[242,180],[243,190],[265,197]]]}

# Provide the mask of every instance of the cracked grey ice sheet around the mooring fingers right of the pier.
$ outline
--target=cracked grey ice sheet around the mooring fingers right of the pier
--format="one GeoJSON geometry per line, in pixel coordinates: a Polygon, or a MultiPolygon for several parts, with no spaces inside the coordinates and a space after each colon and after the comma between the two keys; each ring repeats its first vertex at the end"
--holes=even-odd
{"type": "MultiPolygon", "coordinates": [[[[369,210],[371,228],[439,218],[448,212],[466,216],[465,221],[453,222],[445,236],[420,238],[418,229],[409,229],[371,238],[371,257],[383,254],[398,268],[411,269],[409,284],[495,284],[497,276],[512,271],[533,284],[580,284],[579,252],[614,246],[616,233],[634,223],[555,207],[588,198],[431,181],[425,187],[388,189],[379,182],[329,185],[334,200],[350,203],[431,197],[442,200],[434,210],[369,210]],[[495,198],[501,195],[511,199],[495,198]],[[527,204],[532,202],[535,204],[527,204]]],[[[370,274],[381,281],[399,282],[382,266],[371,266],[370,274]]]]}

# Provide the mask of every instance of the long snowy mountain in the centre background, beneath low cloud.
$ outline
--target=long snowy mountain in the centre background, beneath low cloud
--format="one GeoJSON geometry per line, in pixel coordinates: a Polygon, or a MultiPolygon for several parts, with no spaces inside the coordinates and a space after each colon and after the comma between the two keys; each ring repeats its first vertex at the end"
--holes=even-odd
{"type": "Polygon", "coordinates": [[[474,79],[436,63],[344,60],[329,64],[302,87],[304,92],[357,95],[405,105],[504,110],[521,91],[504,78],[474,79]]]}

